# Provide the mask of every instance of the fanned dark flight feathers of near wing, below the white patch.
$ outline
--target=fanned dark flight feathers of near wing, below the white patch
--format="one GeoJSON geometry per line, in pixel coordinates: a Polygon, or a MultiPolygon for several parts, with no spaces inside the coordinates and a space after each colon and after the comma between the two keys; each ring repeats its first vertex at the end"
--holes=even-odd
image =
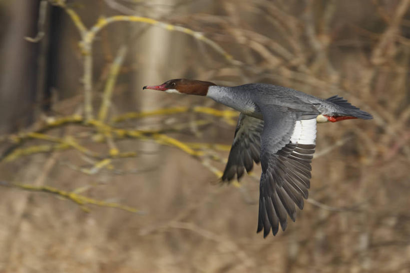
{"type": "Polygon", "coordinates": [[[258,232],[263,229],[264,236],[269,234],[270,228],[273,235],[276,235],[279,224],[282,230],[286,229],[286,213],[292,221],[295,221],[294,204],[299,209],[303,209],[303,198],[307,199],[310,187],[310,161],[313,158],[314,148],[315,145],[304,148],[309,159],[300,158],[301,154],[295,152],[295,149],[302,148],[297,144],[289,143],[266,158],[268,167],[266,170],[262,169],[260,178],[260,200],[264,202],[259,201],[259,204],[264,204],[265,208],[259,208],[257,229],[258,232]],[[261,213],[264,209],[269,212],[267,215],[261,213]]]}

